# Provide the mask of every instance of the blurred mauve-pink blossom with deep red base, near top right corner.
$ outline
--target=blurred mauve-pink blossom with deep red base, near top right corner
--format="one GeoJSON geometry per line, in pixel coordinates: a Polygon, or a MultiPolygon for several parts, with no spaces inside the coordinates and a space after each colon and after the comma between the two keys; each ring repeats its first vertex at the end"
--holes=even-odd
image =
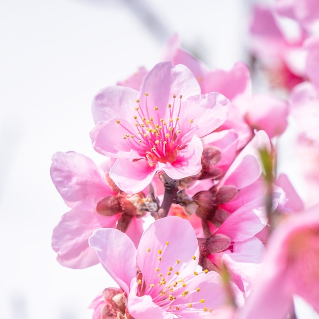
{"type": "Polygon", "coordinates": [[[261,61],[270,85],[291,89],[305,77],[305,52],[302,48],[305,32],[298,28],[294,37],[287,37],[274,11],[255,6],[250,25],[250,48],[261,61]]]}

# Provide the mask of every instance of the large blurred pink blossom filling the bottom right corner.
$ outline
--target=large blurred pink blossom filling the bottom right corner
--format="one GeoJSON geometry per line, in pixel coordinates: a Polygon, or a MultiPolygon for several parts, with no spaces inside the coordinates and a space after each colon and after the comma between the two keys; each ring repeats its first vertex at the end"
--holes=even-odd
{"type": "Polygon", "coordinates": [[[272,233],[241,319],[284,319],[293,295],[319,311],[319,206],[283,220],[272,233]]]}

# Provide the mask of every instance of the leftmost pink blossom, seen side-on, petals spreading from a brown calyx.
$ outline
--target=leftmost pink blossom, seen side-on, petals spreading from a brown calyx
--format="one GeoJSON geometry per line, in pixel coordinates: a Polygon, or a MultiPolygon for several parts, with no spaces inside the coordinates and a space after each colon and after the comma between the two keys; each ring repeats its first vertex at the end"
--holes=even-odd
{"type": "MultiPolygon", "coordinates": [[[[76,269],[90,267],[98,263],[95,251],[88,243],[93,231],[120,226],[119,221],[123,220],[120,208],[103,216],[98,214],[97,204],[104,198],[118,198],[118,192],[108,184],[105,172],[82,154],[56,153],[52,156],[50,172],[58,192],[71,208],[53,231],[52,248],[64,266],[76,269]]],[[[128,197],[120,194],[119,204],[125,204],[128,197]]],[[[143,219],[135,216],[129,219],[126,232],[137,245],[143,232],[143,219]]]]}

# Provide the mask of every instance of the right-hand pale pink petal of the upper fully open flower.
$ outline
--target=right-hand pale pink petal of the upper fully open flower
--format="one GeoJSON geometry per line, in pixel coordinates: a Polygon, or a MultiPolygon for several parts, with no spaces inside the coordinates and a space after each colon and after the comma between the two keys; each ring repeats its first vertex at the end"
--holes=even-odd
{"type": "Polygon", "coordinates": [[[179,115],[181,134],[185,136],[193,129],[198,137],[209,134],[225,122],[229,108],[229,100],[216,92],[189,97],[183,102],[183,112],[179,115]]]}

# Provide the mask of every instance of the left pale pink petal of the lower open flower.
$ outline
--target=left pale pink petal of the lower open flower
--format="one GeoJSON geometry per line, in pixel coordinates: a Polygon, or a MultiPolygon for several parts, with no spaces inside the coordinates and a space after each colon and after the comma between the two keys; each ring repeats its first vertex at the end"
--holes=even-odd
{"type": "Polygon", "coordinates": [[[104,269],[128,294],[130,282],[136,277],[136,248],[130,238],[118,229],[97,229],[89,238],[89,245],[104,269]]]}

